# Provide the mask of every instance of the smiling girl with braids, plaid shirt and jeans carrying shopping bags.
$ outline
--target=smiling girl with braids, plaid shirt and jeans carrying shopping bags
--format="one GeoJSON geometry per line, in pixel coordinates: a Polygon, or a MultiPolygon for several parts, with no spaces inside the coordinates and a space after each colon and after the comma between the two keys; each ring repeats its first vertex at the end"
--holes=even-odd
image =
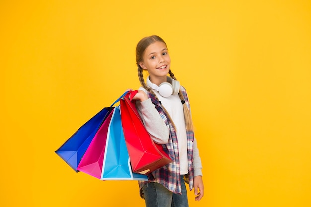
{"type": "Polygon", "coordinates": [[[194,188],[197,201],[204,186],[186,90],[170,70],[168,49],[159,36],[139,41],[136,63],[142,85],[133,97],[136,107],[151,138],[173,160],[150,173],[148,181],[139,181],[141,197],[146,207],[188,207],[185,182],[194,188]],[[146,83],[143,70],[149,73],[146,83]]]}

